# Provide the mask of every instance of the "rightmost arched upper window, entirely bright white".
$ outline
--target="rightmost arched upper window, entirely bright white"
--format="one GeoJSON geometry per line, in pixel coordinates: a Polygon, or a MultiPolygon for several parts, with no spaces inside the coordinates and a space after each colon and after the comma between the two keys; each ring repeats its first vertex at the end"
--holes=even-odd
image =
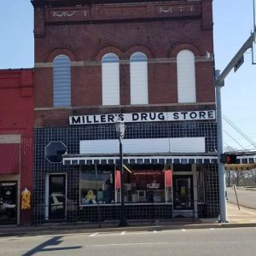
{"type": "Polygon", "coordinates": [[[196,102],[195,55],[188,49],[177,54],[177,101],[196,102]]]}

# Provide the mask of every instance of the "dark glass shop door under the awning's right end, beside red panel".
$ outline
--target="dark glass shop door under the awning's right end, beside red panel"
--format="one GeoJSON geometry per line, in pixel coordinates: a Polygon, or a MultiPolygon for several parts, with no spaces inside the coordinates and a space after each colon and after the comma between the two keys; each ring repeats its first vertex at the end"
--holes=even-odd
{"type": "Polygon", "coordinates": [[[173,209],[193,209],[193,178],[190,176],[173,176],[173,209]]]}

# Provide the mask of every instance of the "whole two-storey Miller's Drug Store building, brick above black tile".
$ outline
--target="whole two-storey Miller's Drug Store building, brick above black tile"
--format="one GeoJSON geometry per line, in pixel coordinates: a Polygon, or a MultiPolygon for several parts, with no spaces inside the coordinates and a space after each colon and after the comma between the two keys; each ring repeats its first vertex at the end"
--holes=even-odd
{"type": "Polygon", "coordinates": [[[218,217],[212,0],[34,0],[35,222],[218,217]]]}

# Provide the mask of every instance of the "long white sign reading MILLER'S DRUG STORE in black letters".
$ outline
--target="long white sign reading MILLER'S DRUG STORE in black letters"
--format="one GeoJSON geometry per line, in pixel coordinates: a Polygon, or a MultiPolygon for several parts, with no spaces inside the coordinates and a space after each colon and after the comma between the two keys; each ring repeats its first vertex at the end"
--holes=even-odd
{"type": "Polygon", "coordinates": [[[120,119],[125,123],[209,120],[215,119],[215,110],[75,115],[69,117],[69,125],[111,124],[114,123],[117,119],[120,119]]]}

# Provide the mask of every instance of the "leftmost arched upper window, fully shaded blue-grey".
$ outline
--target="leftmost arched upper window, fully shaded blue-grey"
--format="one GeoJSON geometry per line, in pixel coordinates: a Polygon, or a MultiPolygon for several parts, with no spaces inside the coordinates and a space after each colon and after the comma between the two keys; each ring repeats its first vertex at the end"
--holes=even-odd
{"type": "Polygon", "coordinates": [[[53,61],[54,107],[71,105],[71,61],[67,55],[58,55],[53,61]]]}

